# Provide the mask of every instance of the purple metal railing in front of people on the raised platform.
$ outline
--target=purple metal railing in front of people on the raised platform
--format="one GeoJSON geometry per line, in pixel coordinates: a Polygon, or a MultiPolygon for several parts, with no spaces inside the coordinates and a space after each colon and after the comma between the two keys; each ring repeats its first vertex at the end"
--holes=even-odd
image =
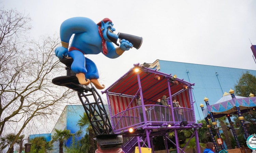
{"type": "Polygon", "coordinates": [[[172,119],[172,109],[170,107],[162,105],[145,105],[146,116],[143,117],[142,106],[128,108],[126,111],[122,111],[112,117],[113,131],[118,132],[129,129],[130,127],[136,127],[144,124],[144,120],[147,123],[179,123],[187,121],[188,123],[194,123],[193,109],[184,107],[173,108],[174,121],[172,119]]]}

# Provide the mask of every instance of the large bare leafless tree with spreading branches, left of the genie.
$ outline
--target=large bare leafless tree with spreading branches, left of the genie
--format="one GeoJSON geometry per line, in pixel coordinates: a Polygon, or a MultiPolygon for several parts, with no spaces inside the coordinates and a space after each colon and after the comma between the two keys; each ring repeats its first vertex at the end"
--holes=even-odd
{"type": "MultiPolygon", "coordinates": [[[[12,126],[14,146],[30,121],[56,114],[59,104],[68,103],[74,91],[52,84],[56,74],[65,75],[54,54],[59,38],[28,40],[31,19],[16,10],[0,9],[0,137],[12,126]]],[[[10,150],[8,150],[10,152],[10,150]]]]}

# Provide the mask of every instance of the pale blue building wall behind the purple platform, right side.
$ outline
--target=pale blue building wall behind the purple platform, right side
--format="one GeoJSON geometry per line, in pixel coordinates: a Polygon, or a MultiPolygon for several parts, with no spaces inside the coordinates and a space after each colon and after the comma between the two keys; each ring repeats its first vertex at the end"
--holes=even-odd
{"type": "Polygon", "coordinates": [[[210,105],[214,104],[222,97],[223,91],[228,92],[230,88],[233,89],[242,73],[249,71],[256,76],[255,70],[172,61],[159,60],[159,66],[160,72],[171,73],[173,75],[176,74],[180,79],[195,83],[195,86],[193,86],[193,101],[196,101],[194,103],[196,120],[203,119],[203,114],[199,105],[202,103],[206,106],[203,101],[204,97],[209,99],[210,105]],[[189,72],[187,73],[187,71],[189,72]],[[218,77],[216,75],[217,73],[218,77]]]}

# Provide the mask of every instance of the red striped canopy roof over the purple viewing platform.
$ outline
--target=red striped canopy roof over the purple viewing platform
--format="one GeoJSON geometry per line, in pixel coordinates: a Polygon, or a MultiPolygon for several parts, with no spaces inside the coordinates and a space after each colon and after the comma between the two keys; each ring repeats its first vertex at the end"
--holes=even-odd
{"type": "MultiPolygon", "coordinates": [[[[137,72],[134,71],[135,68],[140,69],[139,76],[143,92],[143,99],[147,101],[155,102],[157,100],[156,98],[161,99],[163,95],[169,97],[168,85],[170,86],[172,97],[184,91],[182,88],[183,85],[186,85],[188,88],[191,88],[191,86],[194,85],[179,78],[176,78],[176,81],[178,81],[179,84],[173,85],[167,81],[172,77],[171,74],[162,73],[150,68],[139,66],[137,64],[103,92],[112,92],[119,94],[120,96],[136,95],[139,89],[139,84],[137,72]],[[154,79],[156,75],[160,77],[160,80],[154,79]]],[[[139,95],[139,93],[137,95],[139,95]]]]}

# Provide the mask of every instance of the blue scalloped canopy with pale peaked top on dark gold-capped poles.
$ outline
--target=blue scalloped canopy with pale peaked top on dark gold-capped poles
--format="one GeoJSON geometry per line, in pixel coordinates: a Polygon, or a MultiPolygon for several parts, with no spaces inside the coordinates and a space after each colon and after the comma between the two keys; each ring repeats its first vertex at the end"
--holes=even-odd
{"type": "MultiPolygon", "coordinates": [[[[226,114],[237,114],[236,107],[240,108],[241,113],[250,112],[256,106],[256,97],[231,97],[225,92],[220,100],[215,104],[207,106],[208,113],[212,112],[215,118],[225,116],[226,114]]],[[[205,115],[204,115],[205,116],[205,115]]]]}

